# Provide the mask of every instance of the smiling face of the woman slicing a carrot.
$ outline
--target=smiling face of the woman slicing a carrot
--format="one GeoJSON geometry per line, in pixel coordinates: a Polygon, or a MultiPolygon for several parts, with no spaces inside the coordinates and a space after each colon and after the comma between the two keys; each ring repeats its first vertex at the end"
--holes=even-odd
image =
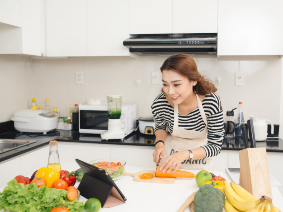
{"type": "Polygon", "coordinates": [[[185,103],[193,95],[192,86],[197,81],[190,81],[187,77],[172,71],[162,71],[163,90],[175,105],[185,103]]]}

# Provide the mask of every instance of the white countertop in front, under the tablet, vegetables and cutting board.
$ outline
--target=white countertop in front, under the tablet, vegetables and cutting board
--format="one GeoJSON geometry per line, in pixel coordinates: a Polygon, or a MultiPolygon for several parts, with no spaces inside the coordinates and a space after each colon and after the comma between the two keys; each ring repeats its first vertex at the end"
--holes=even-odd
{"type": "MultiPolygon", "coordinates": [[[[155,167],[134,167],[126,166],[126,172],[136,173],[140,170],[154,170],[155,167]]],[[[74,170],[74,163],[65,164],[64,170],[74,170]]],[[[198,170],[189,170],[197,174],[198,170]]],[[[214,171],[215,175],[224,177],[228,182],[231,182],[226,172],[214,171]]],[[[195,178],[176,178],[173,184],[164,183],[147,183],[136,182],[133,177],[123,176],[119,180],[114,181],[121,192],[127,198],[126,203],[114,206],[111,208],[101,208],[100,211],[162,211],[173,212],[177,211],[186,199],[199,189],[195,183],[195,178]]],[[[77,181],[75,187],[78,187],[80,182],[77,181]]],[[[1,188],[0,191],[3,191],[1,188]]],[[[283,211],[283,197],[277,188],[272,188],[273,204],[283,211]]],[[[79,201],[85,202],[87,199],[81,196],[79,201]]],[[[185,210],[189,212],[187,208],[185,210]]],[[[3,212],[0,211],[0,212],[3,212]]]]}

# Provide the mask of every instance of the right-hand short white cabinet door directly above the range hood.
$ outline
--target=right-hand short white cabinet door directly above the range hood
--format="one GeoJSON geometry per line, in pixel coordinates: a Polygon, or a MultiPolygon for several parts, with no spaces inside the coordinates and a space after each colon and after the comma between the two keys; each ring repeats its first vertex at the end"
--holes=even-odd
{"type": "Polygon", "coordinates": [[[217,33],[218,0],[173,0],[173,33],[217,33]]]}

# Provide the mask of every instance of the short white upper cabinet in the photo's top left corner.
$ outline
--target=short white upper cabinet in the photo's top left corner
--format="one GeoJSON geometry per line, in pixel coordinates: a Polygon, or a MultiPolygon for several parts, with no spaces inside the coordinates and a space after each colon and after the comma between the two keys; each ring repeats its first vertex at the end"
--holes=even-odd
{"type": "Polygon", "coordinates": [[[0,1],[0,22],[16,27],[22,26],[21,0],[0,1]]]}

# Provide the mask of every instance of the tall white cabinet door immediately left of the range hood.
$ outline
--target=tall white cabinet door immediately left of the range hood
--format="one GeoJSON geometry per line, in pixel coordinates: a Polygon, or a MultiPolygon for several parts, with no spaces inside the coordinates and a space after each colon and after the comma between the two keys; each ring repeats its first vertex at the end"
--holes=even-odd
{"type": "Polygon", "coordinates": [[[87,0],[88,56],[127,56],[129,0],[87,0]]]}

